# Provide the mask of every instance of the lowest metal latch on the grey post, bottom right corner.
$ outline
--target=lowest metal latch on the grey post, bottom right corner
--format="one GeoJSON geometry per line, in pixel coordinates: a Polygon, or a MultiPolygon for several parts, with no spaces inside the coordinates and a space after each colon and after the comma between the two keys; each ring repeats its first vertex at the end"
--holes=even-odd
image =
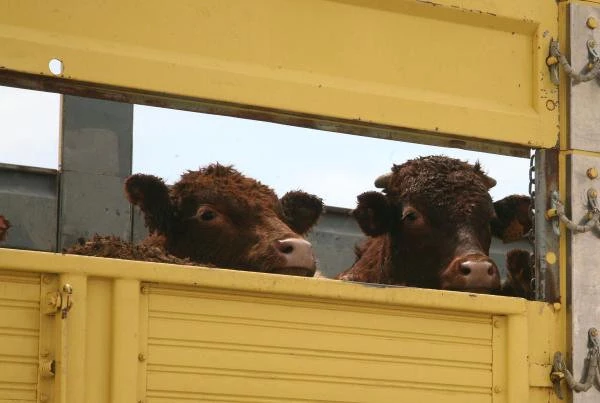
{"type": "Polygon", "coordinates": [[[596,382],[596,388],[600,383],[600,344],[598,343],[598,329],[591,328],[588,331],[588,354],[585,360],[585,367],[583,369],[582,378],[585,382],[577,382],[573,377],[573,374],[567,369],[562,354],[560,352],[554,353],[554,362],[552,364],[552,372],[550,373],[550,380],[554,386],[554,392],[559,399],[563,399],[562,391],[560,389],[560,382],[565,380],[569,389],[579,393],[586,392],[592,386],[594,381],[596,382]]]}

